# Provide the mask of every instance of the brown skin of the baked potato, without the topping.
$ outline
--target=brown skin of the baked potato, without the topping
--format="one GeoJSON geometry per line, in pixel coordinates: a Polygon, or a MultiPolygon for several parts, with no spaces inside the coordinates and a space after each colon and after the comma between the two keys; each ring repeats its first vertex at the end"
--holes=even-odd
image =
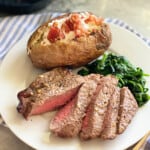
{"type": "MultiPolygon", "coordinates": [[[[63,15],[55,19],[65,16],[63,15]]],[[[31,35],[27,45],[28,55],[33,65],[38,68],[50,69],[60,66],[79,67],[102,55],[111,44],[111,32],[109,26],[105,23],[102,24],[99,31],[91,33],[88,36],[75,38],[71,41],[58,40],[49,45],[42,45],[40,43],[33,44],[32,41],[34,38],[39,36],[38,30],[43,29],[44,32],[49,22],[40,26],[31,35]]]]}

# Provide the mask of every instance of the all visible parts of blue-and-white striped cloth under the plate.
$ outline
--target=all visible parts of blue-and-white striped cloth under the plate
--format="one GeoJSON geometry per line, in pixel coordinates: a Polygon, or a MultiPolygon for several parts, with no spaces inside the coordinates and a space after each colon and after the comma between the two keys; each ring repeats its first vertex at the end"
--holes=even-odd
{"type": "MultiPolygon", "coordinates": [[[[31,14],[0,18],[0,60],[3,60],[9,49],[25,34],[33,32],[40,24],[58,15],[60,15],[60,13],[31,14]]],[[[115,24],[121,28],[129,30],[150,46],[150,39],[145,38],[124,21],[106,18],[105,22],[115,24]]],[[[5,125],[1,116],[0,125],[5,125]]]]}

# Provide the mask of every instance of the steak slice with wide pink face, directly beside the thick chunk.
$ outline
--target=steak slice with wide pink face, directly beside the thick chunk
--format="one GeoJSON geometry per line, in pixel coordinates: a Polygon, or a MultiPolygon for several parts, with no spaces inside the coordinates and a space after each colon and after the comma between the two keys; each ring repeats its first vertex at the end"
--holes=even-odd
{"type": "Polygon", "coordinates": [[[50,122],[50,131],[61,137],[77,136],[100,75],[88,75],[76,97],[60,109],[50,122]]]}

